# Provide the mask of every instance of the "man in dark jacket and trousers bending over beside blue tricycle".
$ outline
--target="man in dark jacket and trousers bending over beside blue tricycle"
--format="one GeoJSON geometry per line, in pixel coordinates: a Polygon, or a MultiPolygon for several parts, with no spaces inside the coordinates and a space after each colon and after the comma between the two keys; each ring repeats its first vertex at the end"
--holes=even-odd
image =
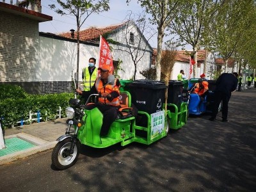
{"type": "Polygon", "coordinates": [[[216,89],[214,90],[214,104],[212,110],[212,116],[209,120],[214,121],[218,113],[218,108],[222,100],[222,121],[227,122],[228,116],[228,101],[231,97],[231,92],[234,92],[237,87],[238,74],[236,72],[232,74],[221,74],[216,81],[216,89]]]}

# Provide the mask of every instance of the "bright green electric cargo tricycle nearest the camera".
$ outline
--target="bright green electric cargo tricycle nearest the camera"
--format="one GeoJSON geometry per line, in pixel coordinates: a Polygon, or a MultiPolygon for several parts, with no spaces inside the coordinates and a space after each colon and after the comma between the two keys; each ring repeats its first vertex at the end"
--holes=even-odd
{"type": "MultiPolygon", "coordinates": [[[[109,79],[108,82],[111,84],[113,80],[109,79]]],[[[116,143],[125,146],[132,142],[150,145],[167,136],[173,115],[169,110],[163,110],[164,99],[160,99],[161,103],[157,103],[159,110],[156,113],[139,109],[134,115],[131,108],[132,96],[124,90],[120,92],[121,108],[118,118],[111,124],[107,136],[100,136],[102,113],[97,108],[85,109],[86,105],[90,104],[88,102],[91,97],[99,96],[99,94],[90,95],[86,104],[82,104],[76,97],[69,100],[70,106],[66,109],[67,130],[58,138],[58,143],[52,151],[52,164],[58,170],[65,170],[76,163],[81,145],[94,148],[106,148],[116,143]]]]}

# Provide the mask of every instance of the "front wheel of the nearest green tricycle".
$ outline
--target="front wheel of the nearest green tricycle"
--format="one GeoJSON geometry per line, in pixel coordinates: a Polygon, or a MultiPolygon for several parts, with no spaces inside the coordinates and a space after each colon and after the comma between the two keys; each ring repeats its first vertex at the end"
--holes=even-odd
{"type": "Polygon", "coordinates": [[[52,164],[58,170],[65,170],[76,163],[80,152],[79,141],[77,141],[74,146],[74,152],[72,156],[69,154],[71,144],[71,138],[67,138],[57,143],[57,145],[52,150],[52,164]]]}

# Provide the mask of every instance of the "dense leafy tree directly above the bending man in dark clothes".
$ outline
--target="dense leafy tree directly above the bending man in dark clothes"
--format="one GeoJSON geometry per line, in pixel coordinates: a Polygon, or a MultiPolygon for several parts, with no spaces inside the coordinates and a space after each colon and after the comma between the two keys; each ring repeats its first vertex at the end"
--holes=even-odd
{"type": "Polygon", "coordinates": [[[228,0],[225,1],[213,16],[209,31],[212,31],[209,43],[211,48],[225,61],[227,70],[228,58],[241,44],[246,44],[248,28],[248,10],[253,0],[228,0]]]}

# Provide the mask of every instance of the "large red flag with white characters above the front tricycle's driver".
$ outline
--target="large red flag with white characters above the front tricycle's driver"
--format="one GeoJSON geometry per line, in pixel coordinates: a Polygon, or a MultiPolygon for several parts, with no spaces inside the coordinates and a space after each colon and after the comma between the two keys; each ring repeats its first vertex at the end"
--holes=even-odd
{"type": "Polygon", "coordinates": [[[108,42],[100,35],[100,54],[99,54],[99,67],[103,64],[109,65],[111,74],[113,73],[113,57],[109,49],[108,42]]]}

